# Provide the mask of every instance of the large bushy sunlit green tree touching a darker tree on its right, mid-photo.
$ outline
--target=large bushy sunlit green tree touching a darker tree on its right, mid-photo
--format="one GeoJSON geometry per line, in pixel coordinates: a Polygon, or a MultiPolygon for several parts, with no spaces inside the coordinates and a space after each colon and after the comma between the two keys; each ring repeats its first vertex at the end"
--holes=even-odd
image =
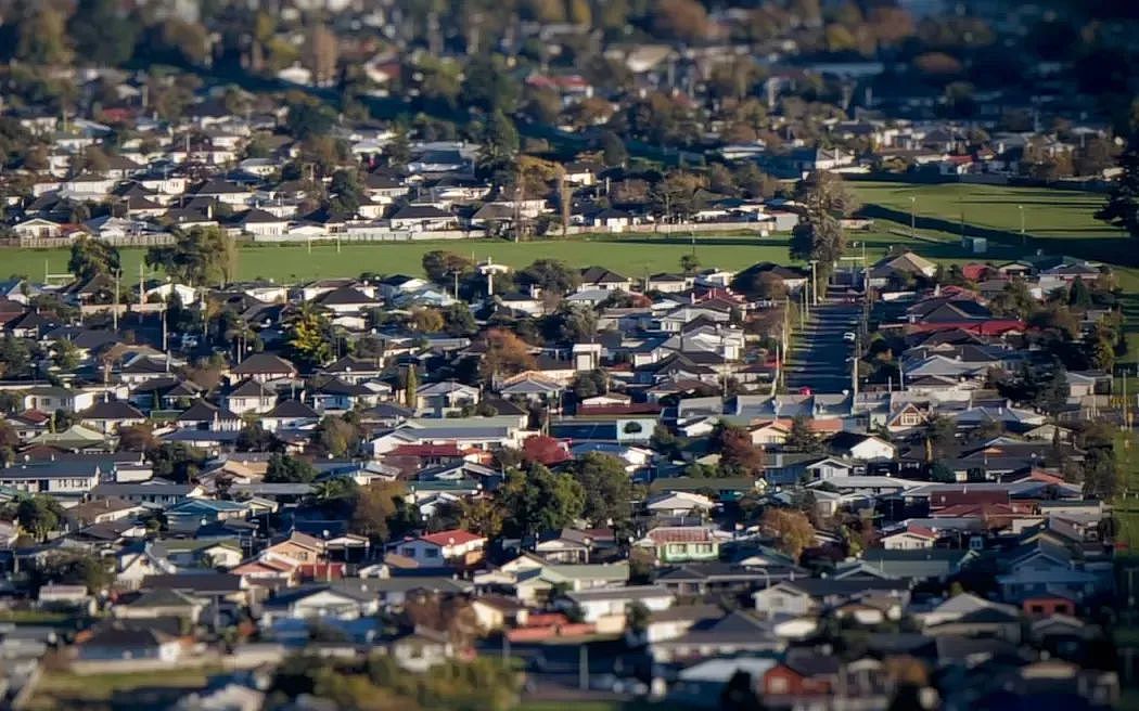
{"type": "Polygon", "coordinates": [[[506,512],[503,529],[524,537],[566,527],[585,506],[585,493],[573,474],[554,473],[541,464],[528,472],[508,471],[498,498],[506,512]]]}

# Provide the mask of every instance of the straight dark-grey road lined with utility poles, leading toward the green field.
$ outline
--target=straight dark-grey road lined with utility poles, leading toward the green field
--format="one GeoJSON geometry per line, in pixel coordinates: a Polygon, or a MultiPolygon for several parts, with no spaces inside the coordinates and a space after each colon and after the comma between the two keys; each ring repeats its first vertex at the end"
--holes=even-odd
{"type": "Polygon", "coordinates": [[[851,387],[854,344],[843,333],[857,332],[862,307],[826,301],[816,306],[813,319],[792,349],[787,366],[787,391],[810,388],[812,392],[842,392],[851,387]]]}

